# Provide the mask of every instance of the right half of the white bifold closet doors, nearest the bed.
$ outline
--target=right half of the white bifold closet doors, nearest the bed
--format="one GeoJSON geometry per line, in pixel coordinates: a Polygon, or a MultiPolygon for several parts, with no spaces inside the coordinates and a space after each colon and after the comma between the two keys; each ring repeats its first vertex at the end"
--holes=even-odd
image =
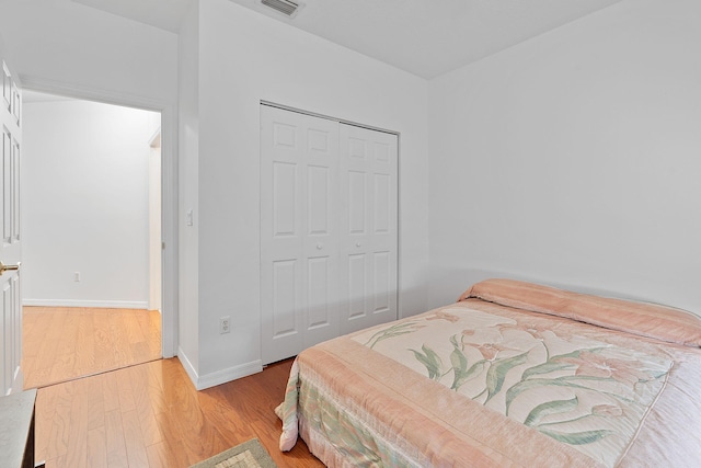
{"type": "Polygon", "coordinates": [[[341,332],[397,319],[398,137],[341,124],[341,332]]]}

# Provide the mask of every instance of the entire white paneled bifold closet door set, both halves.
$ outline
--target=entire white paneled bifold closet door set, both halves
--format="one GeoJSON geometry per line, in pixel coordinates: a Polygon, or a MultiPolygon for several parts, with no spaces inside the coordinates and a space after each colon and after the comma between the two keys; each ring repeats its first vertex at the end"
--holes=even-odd
{"type": "Polygon", "coordinates": [[[261,105],[262,357],[397,319],[398,138],[261,105]]]}

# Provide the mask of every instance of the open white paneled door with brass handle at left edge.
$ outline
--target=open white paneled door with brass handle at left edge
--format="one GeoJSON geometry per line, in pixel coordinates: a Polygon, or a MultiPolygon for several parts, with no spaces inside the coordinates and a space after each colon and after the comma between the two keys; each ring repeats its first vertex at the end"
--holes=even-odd
{"type": "Polygon", "coordinates": [[[2,206],[2,239],[0,240],[0,395],[22,391],[22,298],[20,272],[22,258],[20,243],[20,128],[21,96],[16,80],[3,60],[0,84],[0,130],[2,132],[2,178],[0,178],[0,206],[2,206]],[[5,270],[7,269],[7,270],[5,270]]]}

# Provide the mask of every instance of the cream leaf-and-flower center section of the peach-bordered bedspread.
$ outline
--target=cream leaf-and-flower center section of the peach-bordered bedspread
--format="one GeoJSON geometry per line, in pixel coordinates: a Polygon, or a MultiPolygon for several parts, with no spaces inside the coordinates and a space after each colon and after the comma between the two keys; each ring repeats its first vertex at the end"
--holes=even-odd
{"type": "Polygon", "coordinates": [[[654,346],[633,350],[586,334],[551,318],[458,304],[354,340],[614,466],[673,362],[654,346]]]}

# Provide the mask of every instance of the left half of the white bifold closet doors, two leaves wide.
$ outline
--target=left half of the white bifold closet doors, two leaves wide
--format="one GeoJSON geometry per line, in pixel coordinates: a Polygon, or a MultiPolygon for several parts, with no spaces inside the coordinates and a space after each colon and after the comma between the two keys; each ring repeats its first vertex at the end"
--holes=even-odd
{"type": "Polygon", "coordinates": [[[338,124],[261,106],[263,362],[338,334],[338,124]]]}

